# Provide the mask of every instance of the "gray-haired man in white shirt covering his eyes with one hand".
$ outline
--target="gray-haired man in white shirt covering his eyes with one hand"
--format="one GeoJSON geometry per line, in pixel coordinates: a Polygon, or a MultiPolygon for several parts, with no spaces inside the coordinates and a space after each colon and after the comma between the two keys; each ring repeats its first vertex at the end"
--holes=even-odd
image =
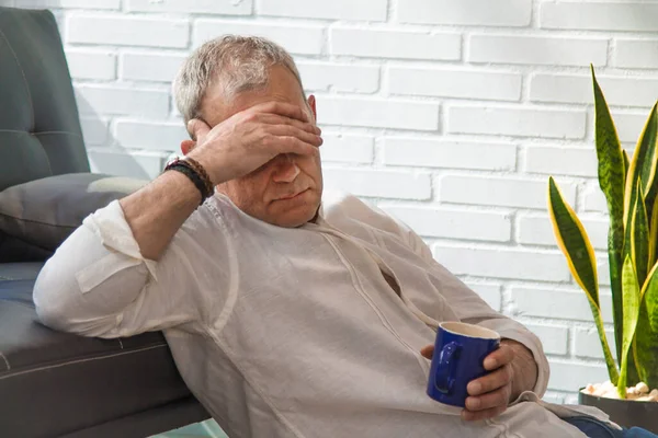
{"type": "Polygon", "coordinates": [[[163,330],[230,437],[582,436],[553,413],[568,410],[535,395],[548,365],[532,333],[404,224],[352,196],[322,196],[316,100],[283,48],[208,42],[174,92],[188,161],[61,245],[35,286],[44,323],[102,337],[163,330]],[[208,185],[216,193],[200,206],[208,185]],[[503,337],[463,411],[426,394],[447,320],[503,337]]]}

